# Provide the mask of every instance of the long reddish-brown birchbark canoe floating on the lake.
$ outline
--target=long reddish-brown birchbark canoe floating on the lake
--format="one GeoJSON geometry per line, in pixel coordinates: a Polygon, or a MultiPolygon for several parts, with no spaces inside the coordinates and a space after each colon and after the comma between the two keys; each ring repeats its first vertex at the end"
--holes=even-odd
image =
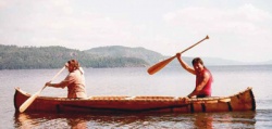
{"type": "MultiPolygon", "coordinates": [[[[18,107],[30,94],[15,88],[14,107],[18,107]]],[[[186,99],[174,96],[91,96],[67,99],[38,96],[26,112],[231,112],[255,111],[256,101],[251,88],[223,98],[186,99]]]]}

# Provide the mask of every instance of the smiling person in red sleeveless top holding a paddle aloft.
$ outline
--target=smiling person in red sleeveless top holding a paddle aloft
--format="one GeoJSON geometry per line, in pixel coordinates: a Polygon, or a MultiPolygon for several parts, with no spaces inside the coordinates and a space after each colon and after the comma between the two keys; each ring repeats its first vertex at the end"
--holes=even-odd
{"type": "Polygon", "coordinates": [[[194,67],[190,67],[181,57],[181,53],[176,53],[176,57],[181,63],[182,67],[193,75],[196,75],[196,88],[188,94],[188,98],[208,98],[211,96],[211,83],[213,81],[210,70],[203,65],[200,57],[196,57],[191,61],[194,67]]]}

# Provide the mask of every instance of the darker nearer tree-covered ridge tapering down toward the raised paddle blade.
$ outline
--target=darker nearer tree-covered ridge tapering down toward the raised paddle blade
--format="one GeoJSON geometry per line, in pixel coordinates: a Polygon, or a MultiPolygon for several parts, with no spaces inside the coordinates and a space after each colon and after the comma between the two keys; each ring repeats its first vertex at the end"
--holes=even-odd
{"type": "Polygon", "coordinates": [[[148,63],[138,57],[104,56],[99,53],[63,47],[16,47],[0,44],[0,69],[59,68],[71,59],[84,67],[141,67],[148,63]]]}

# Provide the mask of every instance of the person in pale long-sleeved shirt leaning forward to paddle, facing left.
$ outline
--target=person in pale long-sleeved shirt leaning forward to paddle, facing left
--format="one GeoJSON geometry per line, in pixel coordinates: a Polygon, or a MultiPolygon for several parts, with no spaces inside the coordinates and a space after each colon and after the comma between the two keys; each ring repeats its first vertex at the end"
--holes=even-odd
{"type": "Polygon", "coordinates": [[[84,70],[79,66],[76,60],[71,60],[65,63],[65,67],[69,70],[69,75],[64,80],[59,83],[51,83],[50,81],[46,86],[54,88],[65,88],[67,87],[67,98],[87,98],[85,89],[85,77],[84,70]]]}

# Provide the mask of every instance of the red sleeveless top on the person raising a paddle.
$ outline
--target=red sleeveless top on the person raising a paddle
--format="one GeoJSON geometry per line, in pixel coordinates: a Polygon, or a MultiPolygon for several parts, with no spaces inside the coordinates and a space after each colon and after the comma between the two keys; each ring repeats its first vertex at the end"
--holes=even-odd
{"type": "Polygon", "coordinates": [[[210,75],[210,78],[198,95],[211,95],[211,82],[213,81],[213,79],[211,73],[207,68],[205,68],[201,73],[197,74],[196,86],[203,81],[205,73],[208,73],[210,75]]]}

